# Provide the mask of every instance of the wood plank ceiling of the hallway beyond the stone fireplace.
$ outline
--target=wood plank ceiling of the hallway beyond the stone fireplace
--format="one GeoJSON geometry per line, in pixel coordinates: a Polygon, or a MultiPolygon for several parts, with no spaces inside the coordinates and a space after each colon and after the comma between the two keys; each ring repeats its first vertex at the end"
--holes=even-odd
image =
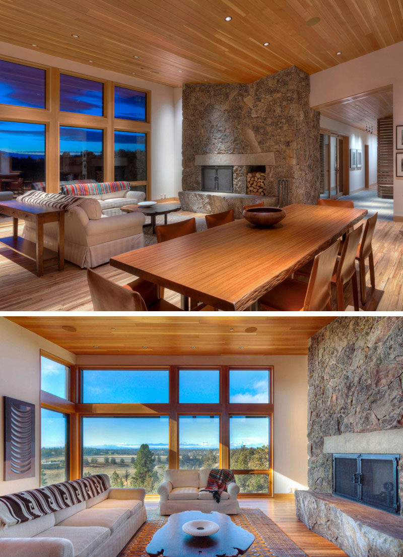
{"type": "Polygon", "coordinates": [[[363,131],[372,126],[372,133],[377,135],[378,118],[393,114],[393,86],[387,85],[313,108],[319,110],[323,116],[363,131]]]}

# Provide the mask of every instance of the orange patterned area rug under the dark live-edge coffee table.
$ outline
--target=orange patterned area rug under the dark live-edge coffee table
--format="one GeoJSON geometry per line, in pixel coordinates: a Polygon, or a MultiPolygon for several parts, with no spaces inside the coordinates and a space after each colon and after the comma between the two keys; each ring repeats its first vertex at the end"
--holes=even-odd
{"type": "MultiPolygon", "coordinates": [[[[168,517],[160,516],[153,509],[147,512],[148,520],[129,541],[118,557],[148,557],[145,548],[155,532],[166,524],[168,517]]],[[[232,515],[237,526],[255,536],[254,543],[244,554],[245,557],[307,557],[305,551],[295,545],[273,520],[260,509],[242,509],[240,515],[232,515]]]]}

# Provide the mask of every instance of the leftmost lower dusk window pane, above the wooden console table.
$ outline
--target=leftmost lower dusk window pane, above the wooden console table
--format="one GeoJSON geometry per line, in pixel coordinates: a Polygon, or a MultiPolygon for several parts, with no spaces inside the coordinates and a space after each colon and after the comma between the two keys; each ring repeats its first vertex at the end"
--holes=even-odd
{"type": "Polygon", "coordinates": [[[45,180],[45,125],[0,121],[0,190],[22,194],[45,180]]]}

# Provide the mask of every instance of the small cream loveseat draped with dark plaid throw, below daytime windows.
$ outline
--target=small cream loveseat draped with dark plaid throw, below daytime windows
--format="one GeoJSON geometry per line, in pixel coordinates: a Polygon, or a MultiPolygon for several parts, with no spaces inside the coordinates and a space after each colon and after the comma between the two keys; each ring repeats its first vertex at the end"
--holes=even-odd
{"type": "Polygon", "coordinates": [[[160,515],[172,515],[182,511],[218,511],[226,515],[237,515],[239,505],[236,499],[239,486],[231,482],[221,494],[217,503],[208,491],[201,491],[207,486],[211,468],[201,470],[166,470],[164,482],[158,487],[160,515]]]}

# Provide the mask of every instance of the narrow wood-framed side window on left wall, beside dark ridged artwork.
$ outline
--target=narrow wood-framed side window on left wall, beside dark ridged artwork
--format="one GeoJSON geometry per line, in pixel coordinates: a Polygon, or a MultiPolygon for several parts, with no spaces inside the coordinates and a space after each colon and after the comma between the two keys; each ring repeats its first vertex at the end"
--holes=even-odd
{"type": "Polygon", "coordinates": [[[75,365],[45,351],[41,370],[41,486],[75,476],[75,365]]]}

